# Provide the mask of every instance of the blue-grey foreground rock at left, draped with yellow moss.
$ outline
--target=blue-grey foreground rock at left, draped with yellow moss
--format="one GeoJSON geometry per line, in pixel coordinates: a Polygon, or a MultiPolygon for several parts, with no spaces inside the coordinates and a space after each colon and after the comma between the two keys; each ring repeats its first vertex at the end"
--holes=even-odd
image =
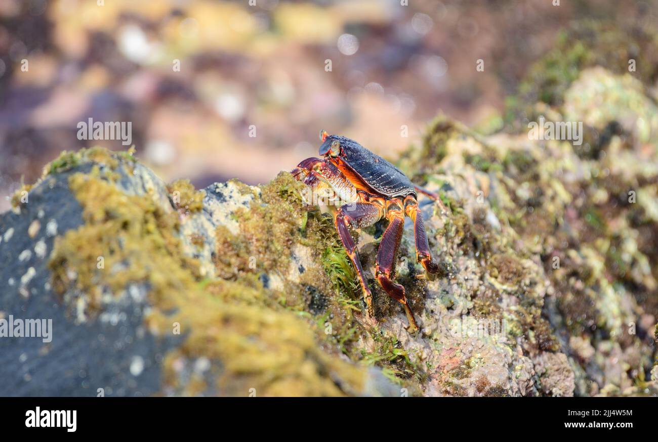
{"type": "MultiPolygon", "coordinates": [[[[177,321],[176,303],[192,303],[186,291],[195,291],[204,276],[213,274],[204,270],[214,268],[211,252],[199,253],[186,232],[202,235],[201,249],[212,250],[215,228],[230,222],[231,204],[246,207],[243,203],[251,198],[218,184],[216,189],[224,191],[206,189],[203,210],[176,210],[179,205],[170,201],[175,189],[169,193],[132,157],[103,149],[65,154],[50,170],[32,187],[28,203],[0,218],[0,278],[7,287],[0,297],[3,316],[52,320],[49,342],[39,337],[0,339],[0,375],[5,380],[0,394],[248,395],[251,388],[264,395],[399,394],[380,370],[366,371],[322,352],[307,324],[282,310],[231,305],[200,318],[209,308],[204,303],[219,300],[199,290],[195,295],[203,301],[197,299],[193,311],[177,321]],[[47,228],[30,235],[35,220],[47,228]],[[153,259],[157,251],[179,256],[153,259]],[[188,274],[185,265],[196,267],[188,274]],[[114,280],[120,280],[118,285],[114,280]],[[169,330],[159,321],[168,321],[169,330]],[[237,330],[216,328],[222,324],[237,330]],[[189,341],[199,336],[188,327],[235,348],[218,345],[195,356],[189,341]],[[254,334],[258,328],[267,332],[263,339],[254,334]],[[257,361],[261,368],[245,358],[249,349],[262,356],[257,361]],[[282,370],[278,381],[246,380],[259,370],[269,377],[275,368],[282,370]],[[234,378],[218,385],[222,373],[230,370],[236,376],[246,374],[242,389],[234,387],[234,378]]],[[[256,291],[237,283],[232,289],[256,291]]]]}

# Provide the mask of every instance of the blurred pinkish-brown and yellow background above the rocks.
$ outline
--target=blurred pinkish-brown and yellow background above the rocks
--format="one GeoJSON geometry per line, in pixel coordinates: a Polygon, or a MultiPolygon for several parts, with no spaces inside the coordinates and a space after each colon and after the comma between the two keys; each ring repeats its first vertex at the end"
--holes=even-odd
{"type": "Polygon", "coordinates": [[[657,18],[641,1],[401,3],[0,0],[0,210],[64,149],[126,149],[79,140],[88,118],[132,122],[164,180],[259,184],[315,156],[320,129],[385,157],[438,112],[499,130],[570,22],[657,18]]]}

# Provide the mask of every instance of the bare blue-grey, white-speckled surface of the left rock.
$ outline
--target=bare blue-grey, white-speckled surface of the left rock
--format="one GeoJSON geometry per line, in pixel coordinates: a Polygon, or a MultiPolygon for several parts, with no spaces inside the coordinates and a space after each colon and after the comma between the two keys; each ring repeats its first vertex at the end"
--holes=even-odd
{"type": "MultiPolygon", "coordinates": [[[[84,164],[46,177],[20,210],[0,217],[0,316],[51,321],[42,330],[49,336],[0,339],[0,395],[94,396],[102,388],[105,395],[133,396],[161,389],[162,358],[176,339],[147,333],[147,287],[135,283],[105,297],[95,320],[78,311],[76,300],[84,294],[63,298],[53,291],[48,261],[55,239],[83,224],[68,176],[89,170],[84,164]]],[[[120,181],[126,191],[143,191],[133,177],[120,181]]]]}

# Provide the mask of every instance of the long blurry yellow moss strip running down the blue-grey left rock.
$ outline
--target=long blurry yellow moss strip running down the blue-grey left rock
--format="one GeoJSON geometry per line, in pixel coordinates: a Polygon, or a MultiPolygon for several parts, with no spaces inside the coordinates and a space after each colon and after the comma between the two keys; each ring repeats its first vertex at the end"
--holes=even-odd
{"type": "Polygon", "coordinates": [[[164,335],[178,323],[185,335],[164,358],[165,386],[180,394],[201,393],[205,381],[182,384],[176,361],[203,356],[218,362],[212,370],[215,388],[224,395],[248,395],[251,388],[260,396],[363,389],[365,369],[323,351],[309,323],[277,308],[255,276],[240,282],[201,280],[197,262],[181,251],[175,211],[149,196],[122,193],[97,168],[72,174],[68,183],[82,205],[84,224],[56,238],[49,262],[53,287],[58,293],[74,287],[84,293],[93,316],[103,308],[101,291],[117,296],[131,283],[145,283],[153,305],[146,318],[149,330],[164,335]],[[99,257],[104,268],[97,266],[99,257]]]}

